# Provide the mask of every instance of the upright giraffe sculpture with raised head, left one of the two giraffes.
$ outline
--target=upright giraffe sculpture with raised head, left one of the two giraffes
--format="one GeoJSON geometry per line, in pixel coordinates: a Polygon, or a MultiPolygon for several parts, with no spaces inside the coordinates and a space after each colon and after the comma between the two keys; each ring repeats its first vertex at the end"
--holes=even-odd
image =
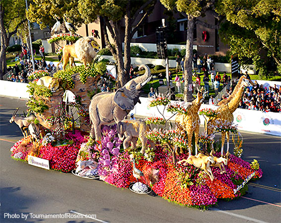
{"type": "Polygon", "coordinates": [[[187,133],[188,140],[188,150],[189,155],[192,153],[192,135],[194,133],[195,136],[195,155],[198,152],[198,140],[199,140],[199,127],[200,127],[200,119],[198,115],[198,110],[204,101],[206,92],[203,93],[203,87],[201,91],[198,90],[197,98],[195,98],[191,105],[187,108],[187,114],[177,114],[175,117],[175,123],[177,128],[184,130],[187,133]]]}

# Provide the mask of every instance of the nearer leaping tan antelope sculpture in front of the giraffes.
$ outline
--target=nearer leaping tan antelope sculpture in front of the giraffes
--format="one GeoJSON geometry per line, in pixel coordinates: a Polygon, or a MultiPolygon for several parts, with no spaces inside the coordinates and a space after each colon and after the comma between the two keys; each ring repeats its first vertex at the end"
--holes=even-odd
{"type": "Polygon", "coordinates": [[[213,172],[210,167],[210,163],[211,164],[215,163],[214,156],[212,156],[212,155],[207,156],[207,155],[204,155],[203,153],[199,153],[197,156],[189,155],[187,157],[187,159],[182,159],[182,160],[178,161],[177,163],[181,164],[183,162],[187,162],[189,164],[194,165],[197,168],[203,169],[208,174],[210,179],[212,181],[214,180],[214,175],[213,175],[213,172]]]}

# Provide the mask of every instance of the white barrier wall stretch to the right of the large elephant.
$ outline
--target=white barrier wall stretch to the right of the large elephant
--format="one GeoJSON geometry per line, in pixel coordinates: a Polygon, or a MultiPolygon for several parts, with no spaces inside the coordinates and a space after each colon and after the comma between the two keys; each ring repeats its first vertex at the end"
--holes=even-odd
{"type": "MultiPolygon", "coordinates": [[[[136,104],[135,108],[132,110],[135,115],[140,116],[156,116],[162,117],[156,107],[150,107],[149,103],[152,99],[141,97],[141,104],[136,104]]],[[[200,109],[212,108],[217,109],[217,106],[202,104],[200,109]]],[[[164,106],[159,106],[159,110],[162,112],[164,106]]],[[[165,111],[165,118],[170,118],[171,113],[165,111]]],[[[270,135],[281,136],[281,113],[275,112],[261,112],[246,109],[237,108],[233,113],[234,124],[237,124],[238,130],[255,132],[255,133],[267,133],[270,135]]],[[[204,117],[200,117],[201,125],[204,125],[204,117]]],[[[174,121],[175,116],[171,118],[174,121]]]]}

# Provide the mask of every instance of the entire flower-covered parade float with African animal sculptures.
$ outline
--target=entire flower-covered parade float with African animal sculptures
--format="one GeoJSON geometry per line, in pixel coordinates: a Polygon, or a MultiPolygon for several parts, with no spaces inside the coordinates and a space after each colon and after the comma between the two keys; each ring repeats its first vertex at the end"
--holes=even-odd
{"type": "MultiPolygon", "coordinates": [[[[98,47],[93,39],[85,38],[89,47],[98,47]]],[[[92,59],[97,51],[93,52],[92,59]]],[[[72,59],[69,61],[71,65],[72,59]]],[[[240,197],[250,179],[262,177],[257,160],[248,163],[240,158],[242,136],[232,126],[232,113],[249,84],[245,76],[217,110],[200,110],[205,93],[198,89],[191,103],[173,102],[169,95],[151,99],[151,107],[164,108],[160,112],[163,117],[128,120],[142,87],[151,79],[148,66],[141,65],[145,74],[116,91],[99,93],[97,81],[106,75],[105,64],[87,63],[64,67],[54,77],[36,74],[39,79],[29,85],[29,117],[20,121],[14,112],[10,120],[17,120],[24,134],[11,148],[13,159],[99,179],[139,194],[155,193],[168,201],[202,209],[215,205],[218,199],[240,197]],[[74,95],[72,99],[65,94],[68,91],[74,95]],[[78,117],[74,117],[74,110],[78,117]],[[174,128],[164,111],[176,116],[174,128]],[[206,119],[201,135],[199,115],[206,119]],[[215,140],[218,132],[222,144],[215,140]],[[229,153],[230,135],[233,154],[229,153]]]]}

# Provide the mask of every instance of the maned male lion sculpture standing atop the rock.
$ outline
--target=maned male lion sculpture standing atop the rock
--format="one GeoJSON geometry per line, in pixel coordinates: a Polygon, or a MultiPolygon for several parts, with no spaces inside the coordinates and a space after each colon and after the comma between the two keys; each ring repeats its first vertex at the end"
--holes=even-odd
{"type": "Polygon", "coordinates": [[[62,68],[65,70],[69,61],[69,66],[72,67],[74,58],[78,58],[85,66],[91,63],[97,56],[100,49],[100,45],[94,40],[94,37],[83,37],[77,40],[72,45],[66,45],[62,49],[62,58],[58,62],[58,65],[63,61],[62,68]]]}

